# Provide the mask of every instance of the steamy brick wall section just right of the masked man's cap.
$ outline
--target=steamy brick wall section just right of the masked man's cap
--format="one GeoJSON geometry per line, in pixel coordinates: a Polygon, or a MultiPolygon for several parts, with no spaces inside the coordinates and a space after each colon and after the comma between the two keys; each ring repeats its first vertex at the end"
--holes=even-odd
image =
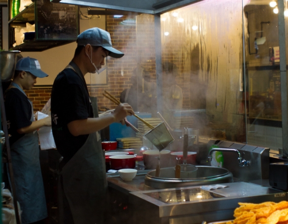
{"type": "Polygon", "coordinates": [[[149,71],[152,80],[156,82],[154,17],[140,15],[137,16],[137,25],[121,24],[126,19],[135,19],[135,17],[106,17],[106,30],[111,35],[112,45],[125,53],[125,56],[120,59],[108,58],[107,86],[94,87],[92,90],[91,95],[97,97],[98,108],[102,111],[104,106],[110,109],[116,107],[114,103],[102,96],[104,90],[119,99],[121,92],[130,87],[130,77],[137,65],[149,71]]]}

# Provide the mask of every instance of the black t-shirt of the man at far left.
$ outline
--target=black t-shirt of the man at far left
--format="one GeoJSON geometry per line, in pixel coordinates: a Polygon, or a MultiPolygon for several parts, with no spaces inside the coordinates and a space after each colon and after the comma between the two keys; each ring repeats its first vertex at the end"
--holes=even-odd
{"type": "Polygon", "coordinates": [[[25,134],[19,134],[18,129],[32,124],[32,106],[29,99],[19,89],[10,88],[4,94],[9,143],[12,145],[25,134]]]}

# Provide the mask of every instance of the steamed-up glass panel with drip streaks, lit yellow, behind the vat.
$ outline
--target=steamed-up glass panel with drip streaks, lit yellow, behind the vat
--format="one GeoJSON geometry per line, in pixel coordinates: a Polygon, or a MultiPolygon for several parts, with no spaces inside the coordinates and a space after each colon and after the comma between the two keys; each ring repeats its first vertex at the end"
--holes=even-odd
{"type": "Polygon", "coordinates": [[[182,115],[180,127],[199,129],[199,141],[246,142],[242,1],[203,0],[162,14],[161,42],[162,70],[176,68],[167,91],[183,95],[174,108],[178,92],[164,97],[171,126],[182,115]]]}

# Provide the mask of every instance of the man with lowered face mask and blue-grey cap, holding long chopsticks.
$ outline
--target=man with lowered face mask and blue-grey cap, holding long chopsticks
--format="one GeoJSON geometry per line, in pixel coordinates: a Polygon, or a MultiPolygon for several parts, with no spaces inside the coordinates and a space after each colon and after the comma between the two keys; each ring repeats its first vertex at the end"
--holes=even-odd
{"type": "Polygon", "coordinates": [[[52,132],[63,156],[59,178],[63,206],[59,207],[64,213],[60,223],[103,224],[108,202],[99,131],[134,112],[128,104],[101,117],[93,111],[84,75],[96,73],[107,56],[124,56],[112,47],[110,34],[92,28],[78,36],[77,45],[72,61],[56,77],[51,95],[52,132]]]}

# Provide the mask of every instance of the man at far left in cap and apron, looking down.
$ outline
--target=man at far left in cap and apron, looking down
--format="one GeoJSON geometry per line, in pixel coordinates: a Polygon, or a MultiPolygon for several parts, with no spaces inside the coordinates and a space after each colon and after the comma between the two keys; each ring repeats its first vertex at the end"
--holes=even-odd
{"type": "Polygon", "coordinates": [[[40,224],[47,218],[36,130],[51,126],[51,117],[35,121],[32,102],[24,92],[34,86],[37,77],[46,76],[38,60],[22,58],[17,62],[13,81],[4,94],[16,196],[25,224],[40,224]]]}

